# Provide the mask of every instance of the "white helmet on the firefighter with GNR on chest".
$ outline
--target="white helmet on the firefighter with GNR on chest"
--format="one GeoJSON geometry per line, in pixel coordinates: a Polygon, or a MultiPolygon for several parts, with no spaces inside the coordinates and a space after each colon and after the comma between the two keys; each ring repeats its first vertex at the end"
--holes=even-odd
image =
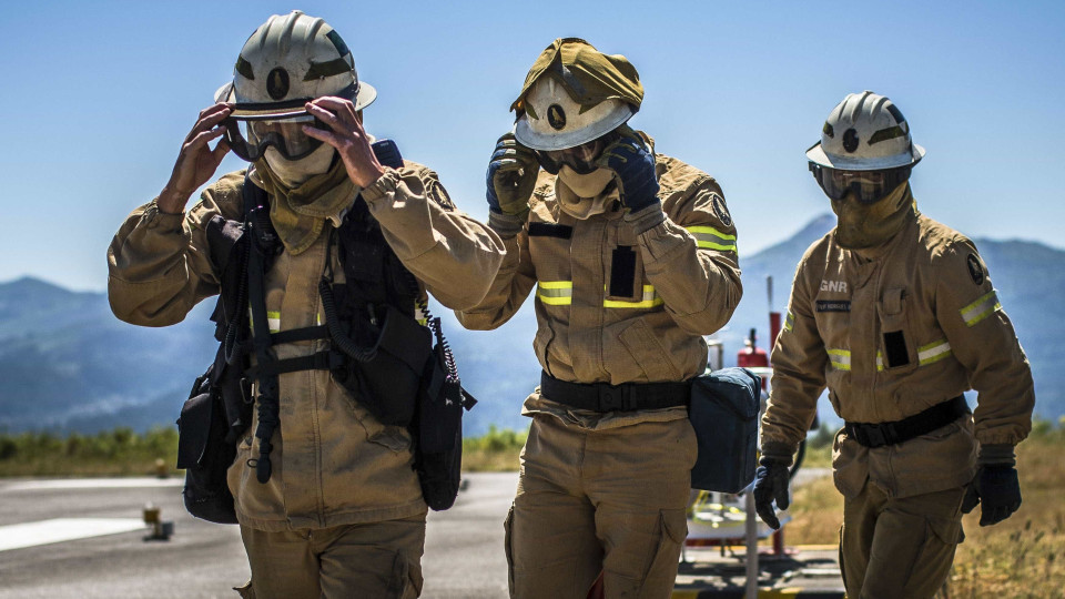
{"type": "Polygon", "coordinates": [[[924,158],[895,104],[871,91],[852,93],[829,114],[821,141],[807,151],[814,164],[839,171],[912,166],[924,158]]]}

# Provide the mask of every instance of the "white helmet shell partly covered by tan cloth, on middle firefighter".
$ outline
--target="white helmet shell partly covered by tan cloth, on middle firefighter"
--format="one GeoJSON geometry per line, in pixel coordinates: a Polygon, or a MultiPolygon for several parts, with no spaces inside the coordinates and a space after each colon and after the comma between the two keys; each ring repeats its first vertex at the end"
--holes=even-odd
{"type": "Polygon", "coordinates": [[[525,97],[515,124],[518,143],[532,150],[575,148],[613,131],[636,114],[628,103],[608,98],[582,108],[554,77],[541,77],[525,97]]]}

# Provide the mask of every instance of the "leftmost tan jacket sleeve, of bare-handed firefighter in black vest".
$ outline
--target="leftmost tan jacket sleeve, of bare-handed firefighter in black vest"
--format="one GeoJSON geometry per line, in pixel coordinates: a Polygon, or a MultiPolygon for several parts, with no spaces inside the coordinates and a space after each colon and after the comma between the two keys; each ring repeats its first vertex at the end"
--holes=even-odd
{"type": "Polygon", "coordinates": [[[221,179],[185,214],[160,212],[152,200],[126,217],[108,248],[108,300],[115,316],[135,325],[168,326],[219,293],[205,226],[219,214],[240,217],[236,181],[243,181],[243,173],[221,179]]]}

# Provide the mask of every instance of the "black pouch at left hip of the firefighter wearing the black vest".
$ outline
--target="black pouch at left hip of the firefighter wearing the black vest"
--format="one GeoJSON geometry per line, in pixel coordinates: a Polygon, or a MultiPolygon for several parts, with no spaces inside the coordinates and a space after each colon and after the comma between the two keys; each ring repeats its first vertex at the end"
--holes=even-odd
{"type": "Polygon", "coordinates": [[[212,385],[214,364],[196,378],[178,418],[178,468],[185,470],[185,509],[216,524],[237,524],[225,471],[236,456],[226,443],[225,406],[212,385]]]}

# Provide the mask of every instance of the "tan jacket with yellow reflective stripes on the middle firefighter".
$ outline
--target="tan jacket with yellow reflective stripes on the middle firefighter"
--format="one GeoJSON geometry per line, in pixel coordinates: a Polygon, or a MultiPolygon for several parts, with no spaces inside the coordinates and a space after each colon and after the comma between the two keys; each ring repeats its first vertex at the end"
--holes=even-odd
{"type": "MultiPolygon", "coordinates": [[[[656,163],[667,217],[640,234],[617,201],[582,220],[560,211],[557,177],[541,171],[528,222],[504,238],[503,266],[485,300],[457,313],[463,325],[500,326],[535,287],[532,347],[549,375],[618,385],[702,374],[702,335],[729,321],[742,294],[736,227],[711,176],[669,156],[657,155],[656,163]]],[[[687,415],[682,407],[607,415],[572,410],[540,397],[538,389],[524,413],[537,412],[589,428],[687,415]]]]}

